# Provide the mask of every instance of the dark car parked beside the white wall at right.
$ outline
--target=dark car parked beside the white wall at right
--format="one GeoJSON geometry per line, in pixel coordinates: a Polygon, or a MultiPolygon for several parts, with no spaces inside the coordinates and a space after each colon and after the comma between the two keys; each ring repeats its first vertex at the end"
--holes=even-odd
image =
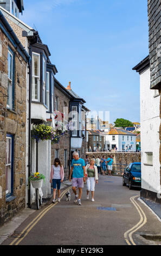
{"type": "Polygon", "coordinates": [[[124,170],[123,186],[128,185],[130,190],[133,187],[141,187],[141,163],[130,163],[124,170]]]}

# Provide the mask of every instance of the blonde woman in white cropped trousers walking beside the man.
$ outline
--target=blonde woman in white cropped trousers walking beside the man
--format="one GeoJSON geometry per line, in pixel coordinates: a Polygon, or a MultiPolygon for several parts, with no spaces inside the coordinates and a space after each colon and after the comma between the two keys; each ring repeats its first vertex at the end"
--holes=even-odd
{"type": "Polygon", "coordinates": [[[89,199],[89,191],[91,190],[92,202],[94,202],[95,182],[98,183],[98,169],[94,165],[95,159],[91,159],[86,166],[87,173],[87,200],[89,199]]]}

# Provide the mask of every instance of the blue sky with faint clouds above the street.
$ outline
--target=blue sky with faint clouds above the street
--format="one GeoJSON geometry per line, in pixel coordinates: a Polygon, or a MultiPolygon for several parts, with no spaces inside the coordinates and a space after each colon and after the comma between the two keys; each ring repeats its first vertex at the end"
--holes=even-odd
{"type": "Polygon", "coordinates": [[[63,86],[91,111],[140,120],[139,74],[149,54],[147,0],[24,0],[25,23],[38,30],[63,86]]]}

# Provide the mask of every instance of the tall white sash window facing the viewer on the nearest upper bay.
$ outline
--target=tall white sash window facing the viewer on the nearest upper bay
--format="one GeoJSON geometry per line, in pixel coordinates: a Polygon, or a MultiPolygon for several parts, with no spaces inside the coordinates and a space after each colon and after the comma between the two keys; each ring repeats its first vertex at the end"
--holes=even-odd
{"type": "Polygon", "coordinates": [[[40,101],[40,54],[33,52],[32,100],[40,101]]]}

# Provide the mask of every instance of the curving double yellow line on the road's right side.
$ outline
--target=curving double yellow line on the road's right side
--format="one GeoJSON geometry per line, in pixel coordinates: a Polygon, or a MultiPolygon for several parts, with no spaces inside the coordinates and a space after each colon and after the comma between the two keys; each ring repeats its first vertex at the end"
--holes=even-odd
{"type": "Polygon", "coordinates": [[[143,225],[145,225],[147,222],[147,218],[146,218],[144,211],[141,209],[140,205],[134,200],[134,198],[136,198],[136,197],[138,197],[138,195],[131,197],[130,200],[133,203],[133,205],[136,207],[137,211],[139,212],[140,221],[133,228],[131,228],[130,230],[125,232],[124,237],[125,237],[125,241],[127,242],[127,245],[136,245],[136,243],[134,243],[134,241],[132,239],[132,235],[138,229],[143,227],[143,225]]]}

